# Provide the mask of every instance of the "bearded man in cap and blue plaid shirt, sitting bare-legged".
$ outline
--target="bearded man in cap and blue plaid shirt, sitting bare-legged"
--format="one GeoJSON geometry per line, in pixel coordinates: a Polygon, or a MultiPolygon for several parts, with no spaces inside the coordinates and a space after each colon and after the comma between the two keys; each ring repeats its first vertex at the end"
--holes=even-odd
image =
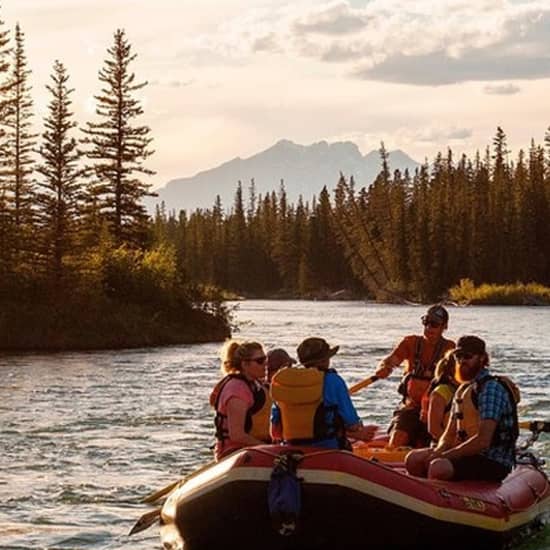
{"type": "Polygon", "coordinates": [[[491,375],[481,338],[460,337],[454,355],[461,385],[451,418],[435,449],[409,452],[407,471],[430,479],[501,481],[515,465],[519,390],[509,378],[491,375]]]}

